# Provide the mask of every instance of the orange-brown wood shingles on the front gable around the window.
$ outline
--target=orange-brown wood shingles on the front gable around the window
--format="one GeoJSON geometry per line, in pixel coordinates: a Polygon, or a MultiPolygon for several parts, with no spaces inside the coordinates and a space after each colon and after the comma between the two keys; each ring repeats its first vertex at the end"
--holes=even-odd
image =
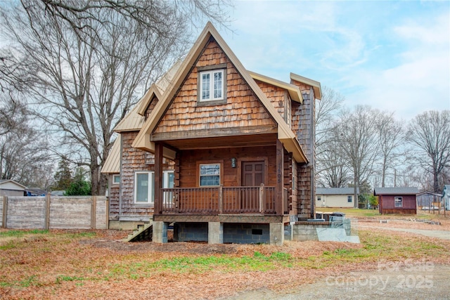
{"type": "Polygon", "coordinates": [[[215,41],[210,41],[153,133],[276,126],[215,41]],[[226,103],[198,106],[197,67],[226,63],[226,103]]]}

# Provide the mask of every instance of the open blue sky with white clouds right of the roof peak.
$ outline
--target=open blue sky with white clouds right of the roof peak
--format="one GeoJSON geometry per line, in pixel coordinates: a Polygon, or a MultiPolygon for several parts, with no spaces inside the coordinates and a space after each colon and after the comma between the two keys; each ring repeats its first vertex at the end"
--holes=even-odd
{"type": "Polygon", "coordinates": [[[321,82],[408,121],[450,110],[450,1],[236,1],[217,27],[244,67],[321,82]]]}

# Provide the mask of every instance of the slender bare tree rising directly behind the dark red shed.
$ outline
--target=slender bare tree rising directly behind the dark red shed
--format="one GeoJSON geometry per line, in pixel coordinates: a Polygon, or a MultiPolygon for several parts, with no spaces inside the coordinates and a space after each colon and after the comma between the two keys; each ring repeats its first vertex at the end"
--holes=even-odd
{"type": "Polygon", "coordinates": [[[381,186],[384,188],[387,169],[396,167],[398,159],[404,157],[404,153],[400,152],[404,132],[401,122],[394,119],[393,112],[380,113],[376,122],[381,155],[381,186]]]}

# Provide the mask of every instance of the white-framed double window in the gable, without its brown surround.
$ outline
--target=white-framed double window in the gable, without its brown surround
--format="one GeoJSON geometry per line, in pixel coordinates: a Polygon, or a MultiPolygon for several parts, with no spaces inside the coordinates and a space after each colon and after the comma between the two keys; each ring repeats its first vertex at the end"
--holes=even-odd
{"type": "Polygon", "coordinates": [[[200,72],[200,102],[224,100],[224,70],[208,70],[200,72]]]}

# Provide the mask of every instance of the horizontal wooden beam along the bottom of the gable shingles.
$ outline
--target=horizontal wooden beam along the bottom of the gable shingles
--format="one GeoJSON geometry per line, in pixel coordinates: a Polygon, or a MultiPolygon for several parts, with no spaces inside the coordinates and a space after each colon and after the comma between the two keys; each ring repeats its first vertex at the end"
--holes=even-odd
{"type": "Polygon", "coordinates": [[[246,126],[217,129],[200,129],[191,131],[172,131],[152,133],[150,141],[170,141],[186,138],[215,138],[218,136],[248,136],[252,134],[278,133],[276,126],[246,126]]]}

